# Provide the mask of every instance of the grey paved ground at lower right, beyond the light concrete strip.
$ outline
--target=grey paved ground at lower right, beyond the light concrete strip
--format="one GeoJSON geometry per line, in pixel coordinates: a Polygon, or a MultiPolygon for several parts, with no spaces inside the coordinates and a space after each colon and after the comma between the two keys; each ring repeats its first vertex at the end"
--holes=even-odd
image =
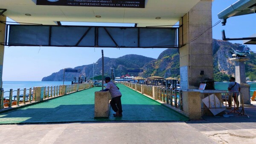
{"type": "MultiPolygon", "coordinates": [[[[245,107],[249,118],[245,115],[230,113],[232,116],[229,118],[204,116],[201,121],[186,123],[219,144],[256,144],[256,101],[251,103],[252,106],[245,107]]],[[[226,110],[226,112],[229,111],[226,110]]]]}

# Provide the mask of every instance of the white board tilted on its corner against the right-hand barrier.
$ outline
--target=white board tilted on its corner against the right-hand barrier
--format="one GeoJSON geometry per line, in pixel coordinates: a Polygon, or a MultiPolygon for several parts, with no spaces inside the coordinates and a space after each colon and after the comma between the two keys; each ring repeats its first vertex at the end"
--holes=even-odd
{"type": "Polygon", "coordinates": [[[226,109],[224,104],[222,104],[221,101],[214,94],[209,95],[208,97],[204,98],[202,101],[204,102],[206,107],[209,108],[209,110],[212,112],[213,115],[217,115],[218,113],[226,109]]]}

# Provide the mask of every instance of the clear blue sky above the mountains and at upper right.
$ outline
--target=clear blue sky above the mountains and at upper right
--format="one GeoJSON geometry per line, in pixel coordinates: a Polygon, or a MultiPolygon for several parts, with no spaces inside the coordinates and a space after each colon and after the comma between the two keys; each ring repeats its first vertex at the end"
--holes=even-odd
{"type": "MultiPolygon", "coordinates": [[[[219,19],[217,14],[237,0],[215,0],[212,4],[212,24],[219,19]]],[[[212,37],[221,39],[224,29],[227,38],[249,37],[256,33],[256,14],[227,19],[226,26],[221,23],[212,29],[212,37]]],[[[230,41],[242,43],[241,40],[230,41]]],[[[248,45],[256,52],[256,45],[248,45]]],[[[137,54],[157,58],[165,49],[116,49],[116,48],[76,48],[76,47],[5,47],[3,62],[3,81],[41,81],[45,76],[60,69],[95,63],[104,56],[118,58],[137,54]]]]}

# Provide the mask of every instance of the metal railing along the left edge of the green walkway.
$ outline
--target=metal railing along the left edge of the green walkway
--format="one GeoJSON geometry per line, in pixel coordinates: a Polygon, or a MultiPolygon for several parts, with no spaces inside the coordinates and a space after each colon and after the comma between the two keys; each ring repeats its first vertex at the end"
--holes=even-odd
{"type": "MultiPolygon", "coordinates": [[[[66,85],[66,89],[62,88],[64,88],[64,86],[44,86],[43,99],[46,100],[48,98],[64,95],[65,92],[68,94],[90,88],[90,83],[66,85]]],[[[33,89],[10,89],[9,91],[0,89],[0,109],[19,106],[20,104],[30,104],[32,101],[36,100],[36,96],[36,87],[33,87],[33,89]]]]}

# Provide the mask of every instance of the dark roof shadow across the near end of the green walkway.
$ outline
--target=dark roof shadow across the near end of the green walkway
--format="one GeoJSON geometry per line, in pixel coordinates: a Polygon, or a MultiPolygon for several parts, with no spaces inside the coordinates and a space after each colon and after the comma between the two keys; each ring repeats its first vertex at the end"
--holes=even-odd
{"type": "Polygon", "coordinates": [[[94,119],[94,105],[59,105],[54,108],[22,108],[0,115],[0,124],[63,123],[86,121],[186,121],[187,118],[161,105],[123,105],[123,116],[94,119]]]}

